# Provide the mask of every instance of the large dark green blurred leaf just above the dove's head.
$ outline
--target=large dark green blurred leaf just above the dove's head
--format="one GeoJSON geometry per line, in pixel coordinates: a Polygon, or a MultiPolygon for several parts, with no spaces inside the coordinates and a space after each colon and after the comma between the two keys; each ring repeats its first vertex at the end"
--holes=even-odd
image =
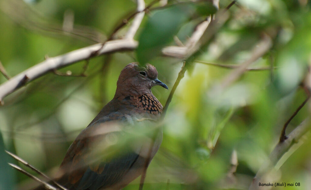
{"type": "Polygon", "coordinates": [[[160,55],[161,49],[173,40],[182,24],[191,17],[214,14],[216,7],[210,2],[174,4],[168,8],[155,11],[148,18],[138,39],[137,61],[145,65],[155,56],[160,55]]]}

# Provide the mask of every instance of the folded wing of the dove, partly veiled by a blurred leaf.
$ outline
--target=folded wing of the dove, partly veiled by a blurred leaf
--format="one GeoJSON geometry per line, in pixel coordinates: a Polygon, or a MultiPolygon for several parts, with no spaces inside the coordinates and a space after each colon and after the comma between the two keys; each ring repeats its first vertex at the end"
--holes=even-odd
{"type": "Polygon", "coordinates": [[[119,121],[104,118],[81,131],[61,165],[65,174],[60,181],[66,181],[67,188],[97,190],[109,187],[132,167],[142,145],[128,143],[128,135],[122,131],[119,121]]]}

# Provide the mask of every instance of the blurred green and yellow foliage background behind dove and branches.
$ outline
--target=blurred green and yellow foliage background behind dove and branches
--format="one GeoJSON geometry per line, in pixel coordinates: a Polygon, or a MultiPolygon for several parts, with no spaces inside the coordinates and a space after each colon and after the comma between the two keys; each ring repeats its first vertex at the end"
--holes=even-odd
{"type": "MultiPolygon", "coordinates": [[[[46,57],[103,42],[136,9],[132,0],[0,2],[0,61],[10,76],[46,57]]],[[[182,2],[197,3],[157,2],[155,9],[147,12],[135,39],[144,40],[142,34],[153,14],[182,2]]],[[[230,3],[220,0],[220,9],[230,3]]],[[[188,70],[169,105],[163,143],[147,171],[144,189],[248,189],[278,143],[284,123],[308,96],[302,82],[311,55],[310,8],[308,0],[239,0],[230,7],[228,20],[187,63],[188,70]],[[217,85],[232,69],[199,62],[241,64],[264,34],[271,36],[272,47],[251,68],[268,69],[247,71],[215,95],[217,85]]],[[[172,34],[185,42],[202,21],[201,13],[195,9],[172,34]]],[[[158,22],[173,24],[170,20],[176,21],[166,17],[158,22]]],[[[127,29],[122,28],[114,38],[122,37],[127,29]]],[[[175,44],[173,37],[163,43],[175,44]]],[[[0,107],[0,189],[25,189],[35,183],[7,165],[19,163],[4,149],[52,176],[77,134],[114,96],[119,72],[133,61],[137,61],[136,51],[98,56],[59,69],[79,75],[86,68],[86,76],[51,72],[6,97],[0,107]]],[[[152,89],[165,105],[183,60],[152,55],[149,63],[156,66],[158,78],[169,87],[152,89]]],[[[0,83],[6,80],[0,74],[0,83]]],[[[290,122],[287,134],[309,114],[307,104],[290,122]]],[[[269,176],[271,181],[300,183],[286,187],[288,190],[311,189],[311,140],[307,137],[280,159],[269,176]]],[[[138,186],[139,179],[124,189],[138,186]]]]}

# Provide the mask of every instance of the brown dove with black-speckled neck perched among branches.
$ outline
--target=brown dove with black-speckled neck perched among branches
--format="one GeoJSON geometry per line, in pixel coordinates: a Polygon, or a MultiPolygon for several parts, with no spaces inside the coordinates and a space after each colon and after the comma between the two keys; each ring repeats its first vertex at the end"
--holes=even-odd
{"type": "Polygon", "coordinates": [[[157,76],[150,64],[130,63],[121,71],[114,98],[69,147],[58,183],[70,190],[119,190],[142,173],[146,160],[159,149],[162,132],[157,130],[154,141],[149,136],[129,137],[141,129],[137,121],[160,117],[163,106],[151,87],[167,86],[157,76]]]}

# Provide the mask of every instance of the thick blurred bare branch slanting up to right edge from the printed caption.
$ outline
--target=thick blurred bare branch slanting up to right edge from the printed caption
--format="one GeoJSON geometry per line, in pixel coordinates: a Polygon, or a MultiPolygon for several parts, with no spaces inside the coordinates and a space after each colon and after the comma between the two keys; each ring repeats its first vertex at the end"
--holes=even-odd
{"type": "Polygon", "coordinates": [[[299,126],[297,126],[289,135],[286,140],[279,142],[275,148],[272,150],[269,159],[262,164],[256,176],[253,178],[253,182],[249,187],[249,190],[259,189],[258,183],[265,183],[263,180],[264,176],[274,168],[276,163],[282,158],[282,156],[287,152],[298,140],[310,131],[309,119],[304,120],[299,126]]]}

